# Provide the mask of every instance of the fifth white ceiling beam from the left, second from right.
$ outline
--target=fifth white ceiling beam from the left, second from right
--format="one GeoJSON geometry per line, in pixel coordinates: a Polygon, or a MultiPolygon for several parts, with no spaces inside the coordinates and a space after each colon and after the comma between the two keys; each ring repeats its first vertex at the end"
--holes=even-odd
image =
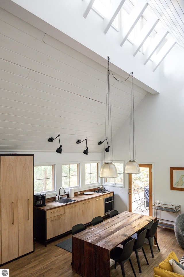
{"type": "Polygon", "coordinates": [[[147,49],[144,52],[144,65],[149,61],[153,53],[156,51],[156,49],[160,46],[166,35],[168,34],[168,31],[164,29],[160,29],[156,36],[154,37],[152,43],[150,46],[147,47],[147,49]]]}

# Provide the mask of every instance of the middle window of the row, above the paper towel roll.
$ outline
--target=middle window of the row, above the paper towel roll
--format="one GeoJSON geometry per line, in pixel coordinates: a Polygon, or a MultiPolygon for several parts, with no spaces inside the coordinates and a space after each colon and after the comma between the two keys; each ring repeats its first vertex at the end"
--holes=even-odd
{"type": "Polygon", "coordinates": [[[62,165],[62,187],[71,188],[78,186],[78,164],[62,165]]]}

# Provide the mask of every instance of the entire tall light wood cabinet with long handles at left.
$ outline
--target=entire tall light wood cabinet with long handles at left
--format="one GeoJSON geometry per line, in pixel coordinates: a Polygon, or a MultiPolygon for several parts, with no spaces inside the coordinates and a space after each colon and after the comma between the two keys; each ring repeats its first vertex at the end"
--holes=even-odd
{"type": "Polygon", "coordinates": [[[34,251],[34,155],[1,158],[1,263],[34,251]]]}

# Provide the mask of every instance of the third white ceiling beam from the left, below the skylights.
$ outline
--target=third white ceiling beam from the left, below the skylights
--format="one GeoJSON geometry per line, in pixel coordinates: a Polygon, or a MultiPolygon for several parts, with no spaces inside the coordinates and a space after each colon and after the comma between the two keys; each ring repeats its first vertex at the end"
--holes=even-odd
{"type": "Polygon", "coordinates": [[[127,40],[129,34],[135,27],[137,21],[139,20],[139,18],[141,17],[143,12],[147,8],[147,6],[148,6],[147,1],[145,1],[145,0],[137,1],[136,5],[134,6],[133,10],[131,11],[131,13],[128,17],[128,20],[126,21],[126,23],[124,24],[124,26],[122,27],[122,29],[120,31],[120,35],[122,37],[120,46],[122,46],[124,44],[124,42],[127,40]]]}

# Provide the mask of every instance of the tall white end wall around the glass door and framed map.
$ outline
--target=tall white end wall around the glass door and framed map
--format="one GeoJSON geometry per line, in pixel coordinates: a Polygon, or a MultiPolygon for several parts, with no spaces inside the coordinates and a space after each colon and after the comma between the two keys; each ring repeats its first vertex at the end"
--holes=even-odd
{"type": "MultiPolygon", "coordinates": [[[[136,161],[154,163],[153,201],[181,204],[184,191],[170,190],[170,167],[184,167],[184,53],[173,48],[164,61],[160,76],[161,93],[148,94],[135,110],[136,161]],[[173,58],[174,55],[174,58],[173,58]],[[174,72],[174,73],[173,73],[174,72]]],[[[128,161],[129,122],[119,130],[113,143],[114,159],[128,161]]],[[[127,175],[127,174],[125,174],[127,175]]],[[[128,205],[128,176],[124,201],[128,205]]]]}

